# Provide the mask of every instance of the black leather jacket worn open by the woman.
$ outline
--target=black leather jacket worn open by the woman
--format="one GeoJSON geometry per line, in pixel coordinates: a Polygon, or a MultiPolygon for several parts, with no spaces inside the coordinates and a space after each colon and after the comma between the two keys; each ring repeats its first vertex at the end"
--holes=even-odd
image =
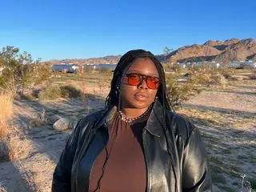
{"type": "MultiPolygon", "coordinates": [[[[82,118],[54,170],[52,191],[88,191],[90,170],[109,139],[115,107],[82,118]]],[[[205,146],[198,129],[155,102],[142,133],[150,192],[212,191],[205,146]],[[168,150],[169,149],[169,150],[168,150]]]]}

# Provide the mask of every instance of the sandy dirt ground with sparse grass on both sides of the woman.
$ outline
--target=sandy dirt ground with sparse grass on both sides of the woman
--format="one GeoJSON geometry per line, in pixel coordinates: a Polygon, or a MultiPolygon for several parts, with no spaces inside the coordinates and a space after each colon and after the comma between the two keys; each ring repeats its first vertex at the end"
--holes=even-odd
{"type": "MultiPolygon", "coordinates": [[[[54,167],[71,132],[54,130],[53,123],[61,117],[75,122],[101,109],[102,95],[90,95],[86,101],[16,100],[9,135],[14,158],[0,163],[0,186],[7,191],[50,191],[54,167]]],[[[230,82],[225,89],[210,87],[177,113],[190,118],[202,133],[214,191],[241,191],[241,174],[246,174],[245,183],[256,186],[256,80],[230,82]]]]}

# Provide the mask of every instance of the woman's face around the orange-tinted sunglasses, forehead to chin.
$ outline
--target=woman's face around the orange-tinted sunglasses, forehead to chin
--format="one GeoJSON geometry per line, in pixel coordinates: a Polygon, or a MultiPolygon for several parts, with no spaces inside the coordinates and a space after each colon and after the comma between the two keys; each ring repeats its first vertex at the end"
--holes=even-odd
{"type": "MultiPolygon", "coordinates": [[[[150,58],[137,58],[126,74],[142,74],[159,78],[158,70],[150,58]]],[[[127,78],[121,80],[122,107],[144,109],[154,102],[158,89],[150,89],[144,79],[138,86],[127,83],[127,78]]]]}

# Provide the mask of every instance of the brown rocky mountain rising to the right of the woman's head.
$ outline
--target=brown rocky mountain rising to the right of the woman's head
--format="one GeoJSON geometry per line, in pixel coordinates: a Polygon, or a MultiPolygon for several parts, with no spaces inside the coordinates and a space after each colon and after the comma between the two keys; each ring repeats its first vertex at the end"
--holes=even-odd
{"type": "Polygon", "coordinates": [[[202,61],[256,61],[256,40],[246,38],[227,39],[226,41],[209,40],[202,46],[183,46],[174,50],[167,58],[171,62],[202,62],[202,61]]]}

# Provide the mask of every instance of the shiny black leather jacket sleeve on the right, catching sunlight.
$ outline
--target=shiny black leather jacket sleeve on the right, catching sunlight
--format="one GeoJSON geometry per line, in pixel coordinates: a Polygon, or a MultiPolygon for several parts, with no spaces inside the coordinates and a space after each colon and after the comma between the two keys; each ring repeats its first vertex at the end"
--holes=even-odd
{"type": "Polygon", "coordinates": [[[186,139],[182,161],[182,191],[212,191],[207,154],[200,133],[192,124],[186,139]]]}

